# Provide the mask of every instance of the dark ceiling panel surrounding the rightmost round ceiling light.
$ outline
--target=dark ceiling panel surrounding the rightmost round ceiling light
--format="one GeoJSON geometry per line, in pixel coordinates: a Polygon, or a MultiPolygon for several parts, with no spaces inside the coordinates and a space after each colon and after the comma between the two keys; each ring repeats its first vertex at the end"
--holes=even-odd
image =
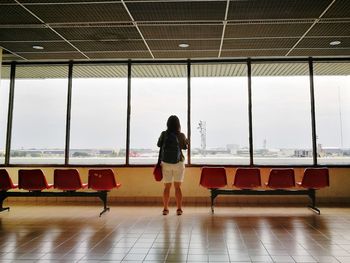
{"type": "Polygon", "coordinates": [[[336,40],[341,41],[340,45],[331,46],[329,43],[334,41],[334,38],[324,37],[324,38],[304,38],[296,46],[296,48],[329,48],[329,49],[338,49],[338,48],[350,48],[350,36],[337,38],[336,40]]]}

